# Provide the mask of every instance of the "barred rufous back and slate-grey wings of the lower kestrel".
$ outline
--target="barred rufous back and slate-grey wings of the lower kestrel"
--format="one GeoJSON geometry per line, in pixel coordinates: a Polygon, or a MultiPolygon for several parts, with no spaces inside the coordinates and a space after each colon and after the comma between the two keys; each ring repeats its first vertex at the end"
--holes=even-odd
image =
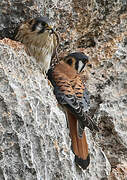
{"type": "Polygon", "coordinates": [[[83,130],[88,127],[91,131],[98,131],[97,126],[85,112],[88,109],[88,92],[79,77],[70,79],[59,69],[49,70],[48,78],[54,86],[57,101],[66,107],[78,120],[78,135],[82,137],[83,130]],[[85,107],[86,106],[86,107],[85,107]]]}

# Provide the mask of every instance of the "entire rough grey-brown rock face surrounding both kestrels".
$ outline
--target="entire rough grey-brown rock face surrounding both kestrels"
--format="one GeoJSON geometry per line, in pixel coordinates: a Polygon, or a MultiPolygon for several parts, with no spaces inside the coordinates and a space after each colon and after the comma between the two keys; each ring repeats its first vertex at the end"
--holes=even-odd
{"type": "Polygon", "coordinates": [[[1,41],[0,179],[127,179],[127,1],[1,0],[0,38],[14,39],[17,25],[37,14],[55,20],[59,57],[89,56],[84,75],[100,132],[87,131],[91,164],[77,170],[64,114],[39,66],[21,44],[1,41]]]}

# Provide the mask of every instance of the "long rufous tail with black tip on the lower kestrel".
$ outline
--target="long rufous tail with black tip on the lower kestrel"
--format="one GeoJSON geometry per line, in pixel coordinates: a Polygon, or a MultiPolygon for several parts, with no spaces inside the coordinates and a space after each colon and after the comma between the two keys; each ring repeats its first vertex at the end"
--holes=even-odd
{"type": "Polygon", "coordinates": [[[85,131],[83,132],[82,137],[79,137],[77,119],[70,111],[67,111],[67,118],[70,129],[70,137],[72,139],[72,151],[75,154],[75,162],[82,169],[86,169],[90,163],[90,158],[85,131]]]}

